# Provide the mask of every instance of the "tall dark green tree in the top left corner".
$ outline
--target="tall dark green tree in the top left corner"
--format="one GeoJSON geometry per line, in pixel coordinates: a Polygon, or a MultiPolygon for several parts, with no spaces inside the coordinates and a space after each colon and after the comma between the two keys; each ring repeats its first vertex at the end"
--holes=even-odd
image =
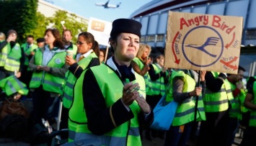
{"type": "Polygon", "coordinates": [[[6,34],[9,29],[18,33],[17,41],[24,42],[26,35],[37,25],[37,0],[1,0],[0,28],[6,34]]]}

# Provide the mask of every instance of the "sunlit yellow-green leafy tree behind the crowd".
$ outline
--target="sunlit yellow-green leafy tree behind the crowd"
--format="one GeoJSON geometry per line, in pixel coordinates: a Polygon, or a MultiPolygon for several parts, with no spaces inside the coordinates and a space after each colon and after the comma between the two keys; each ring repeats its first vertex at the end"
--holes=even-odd
{"type": "Polygon", "coordinates": [[[50,23],[54,23],[53,27],[58,29],[61,33],[63,31],[61,21],[64,21],[66,29],[70,29],[73,34],[73,42],[76,42],[77,35],[79,35],[80,32],[87,30],[87,22],[79,19],[76,14],[69,14],[66,11],[59,10],[56,12],[56,14],[54,14],[54,17],[50,17],[49,19],[50,23]]]}

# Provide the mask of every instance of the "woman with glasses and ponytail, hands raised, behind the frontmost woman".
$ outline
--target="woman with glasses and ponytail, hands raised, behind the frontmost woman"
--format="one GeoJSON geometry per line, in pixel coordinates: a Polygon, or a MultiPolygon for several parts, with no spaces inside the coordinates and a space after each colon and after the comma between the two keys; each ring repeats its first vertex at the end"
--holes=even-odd
{"type": "Polygon", "coordinates": [[[78,47],[76,60],[72,56],[66,55],[66,64],[70,67],[65,75],[66,83],[63,86],[64,108],[61,116],[61,128],[68,128],[69,108],[73,101],[73,87],[76,79],[85,69],[100,65],[100,60],[97,57],[100,52],[99,44],[91,33],[81,32],[76,45],[78,47]]]}

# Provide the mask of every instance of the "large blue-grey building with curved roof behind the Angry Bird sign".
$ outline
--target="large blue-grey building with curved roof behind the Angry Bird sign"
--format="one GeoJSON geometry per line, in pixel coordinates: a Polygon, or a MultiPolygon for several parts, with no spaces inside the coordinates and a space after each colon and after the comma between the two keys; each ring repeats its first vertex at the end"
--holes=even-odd
{"type": "Polygon", "coordinates": [[[141,42],[164,53],[169,11],[243,17],[242,47],[239,65],[245,76],[256,76],[256,1],[255,0],[153,0],[141,6],[131,19],[141,22],[141,42]]]}

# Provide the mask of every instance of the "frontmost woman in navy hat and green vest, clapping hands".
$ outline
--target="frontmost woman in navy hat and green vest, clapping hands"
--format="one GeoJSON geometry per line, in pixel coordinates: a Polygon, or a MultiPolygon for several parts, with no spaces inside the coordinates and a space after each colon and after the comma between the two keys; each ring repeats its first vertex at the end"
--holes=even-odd
{"type": "MultiPolygon", "coordinates": [[[[97,140],[100,145],[141,145],[138,127],[150,125],[154,114],[144,97],[145,81],[131,67],[138,53],[141,23],[112,22],[114,56],[84,71],[74,86],[69,110],[69,140],[97,140]]],[[[96,144],[95,144],[96,145],[96,144]]]]}

